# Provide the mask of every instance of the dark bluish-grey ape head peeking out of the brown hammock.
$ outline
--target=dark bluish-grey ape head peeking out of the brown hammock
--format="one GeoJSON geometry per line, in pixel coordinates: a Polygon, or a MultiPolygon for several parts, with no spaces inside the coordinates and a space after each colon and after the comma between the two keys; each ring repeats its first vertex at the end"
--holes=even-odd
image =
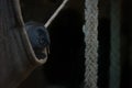
{"type": "Polygon", "coordinates": [[[37,58],[45,58],[50,53],[50,35],[43,24],[25,23],[29,40],[37,58]]]}

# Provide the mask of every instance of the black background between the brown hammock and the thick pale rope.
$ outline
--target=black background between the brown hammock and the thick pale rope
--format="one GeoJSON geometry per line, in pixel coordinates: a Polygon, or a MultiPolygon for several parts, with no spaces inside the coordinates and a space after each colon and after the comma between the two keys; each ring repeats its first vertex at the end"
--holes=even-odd
{"type": "MultiPolygon", "coordinates": [[[[61,3],[62,0],[21,0],[24,22],[45,23],[61,3]]],[[[20,87],[80,88],[85,78],[84,23],[84,0],[70,0],[47,28],[51,50],[46,64],[36,68],[20,87]]]]}

